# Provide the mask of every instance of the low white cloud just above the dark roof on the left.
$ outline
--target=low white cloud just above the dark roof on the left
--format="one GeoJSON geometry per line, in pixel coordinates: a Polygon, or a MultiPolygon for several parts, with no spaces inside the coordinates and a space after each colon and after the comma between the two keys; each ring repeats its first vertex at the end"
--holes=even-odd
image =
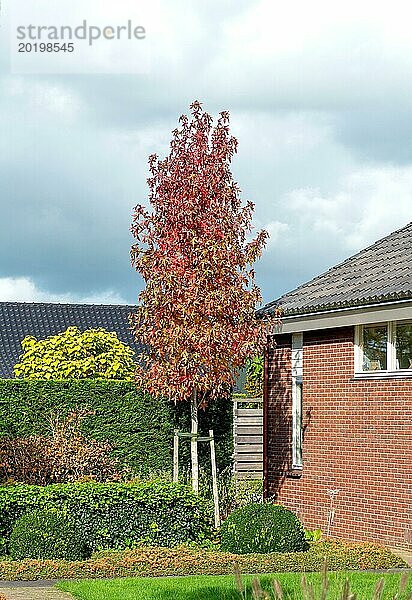
{"type": "Polygon", "coordinates": [[[0,302],[60,302],[79,304],[126,304],[125,300],[112,290],[94,293],[89,296],[75,294],[53,294],[39,289],[28,277],[0,278],[0,302]]]}

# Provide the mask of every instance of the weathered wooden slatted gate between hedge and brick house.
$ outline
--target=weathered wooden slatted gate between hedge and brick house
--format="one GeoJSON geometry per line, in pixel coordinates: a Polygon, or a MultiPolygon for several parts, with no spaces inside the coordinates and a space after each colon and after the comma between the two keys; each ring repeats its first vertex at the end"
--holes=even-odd
{"type": "Polygon", "coordinates": [[[234,471],[239,479],[263,478],[263,400],[234,398],[234,471]]]}

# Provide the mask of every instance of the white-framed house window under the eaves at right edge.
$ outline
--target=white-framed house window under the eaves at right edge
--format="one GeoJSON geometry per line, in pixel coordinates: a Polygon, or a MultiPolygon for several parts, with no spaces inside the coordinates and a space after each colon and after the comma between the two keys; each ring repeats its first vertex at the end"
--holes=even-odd
{"type": "Polygon", "coordinates": [[[412,375],[411,322],[358,325],[355,338],[357,375],[412,375]]]}

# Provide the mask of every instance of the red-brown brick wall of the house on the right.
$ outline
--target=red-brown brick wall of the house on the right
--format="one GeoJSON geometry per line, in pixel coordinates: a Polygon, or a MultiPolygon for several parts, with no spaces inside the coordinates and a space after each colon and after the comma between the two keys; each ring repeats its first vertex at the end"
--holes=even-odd
{"type": "Polygon", "coordinates": [[[304,335],[303,471],[291,465],[291,336],[269,355],[267,487],[308,528],[412,546],[412,379],[355,380],[354,329],[304,335]]]}

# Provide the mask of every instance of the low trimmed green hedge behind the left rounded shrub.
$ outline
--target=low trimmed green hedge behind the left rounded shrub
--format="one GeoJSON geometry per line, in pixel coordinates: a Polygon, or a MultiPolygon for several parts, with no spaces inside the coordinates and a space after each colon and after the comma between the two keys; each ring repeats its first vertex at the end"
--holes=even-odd
{"type": "Polygon", "coordinates": [[[90,551],[139,543],[174,546],[211,532],[210,502],[164,482],[0,486],[0,555],[22,515],[64,510],[90,551]]]}

